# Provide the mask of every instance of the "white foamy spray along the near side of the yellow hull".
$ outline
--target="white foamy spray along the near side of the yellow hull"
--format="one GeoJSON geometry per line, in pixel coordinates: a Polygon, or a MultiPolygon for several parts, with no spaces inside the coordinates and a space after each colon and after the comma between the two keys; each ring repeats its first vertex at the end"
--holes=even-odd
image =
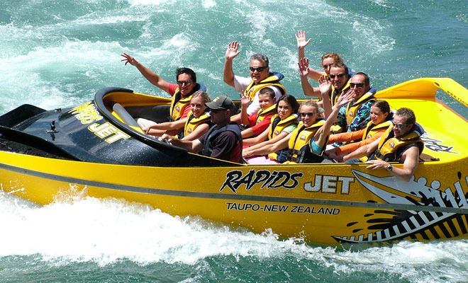
{"type": "Polygon", "coordinates": [[[40,255],[50,265],[130,260],[199,265],[206,258],[287,258],[310,262],[340,275],[390,275],[411,282],[456,282],[467,278],[468,241],[401,242],[352,250],[308,246],[299,239],[279,241],[271,231],[255,234],[194,216],[170,216],[122,200],[70,197],[38,207],[0,194],[0,258],[40,255]],[[465,270],[465,271],[462,271],[465,270]],[[455,276],[456,274],[456,276],[455,276]]]}

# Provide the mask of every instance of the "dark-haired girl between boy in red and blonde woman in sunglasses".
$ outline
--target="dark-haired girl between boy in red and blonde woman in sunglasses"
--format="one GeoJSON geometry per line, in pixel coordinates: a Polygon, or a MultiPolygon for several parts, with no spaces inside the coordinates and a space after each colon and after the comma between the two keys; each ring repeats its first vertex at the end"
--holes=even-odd
{"type": "Polygon", "coordinates": [[[285,94],[279,98],[276,105],[277,114],[271,118],[271,124],[259,136],[252,139],[244,139],[244,145],[251,145],[243,149],[243,156],[247,158],[247,163],[282,163],[286,161],[287,146],[272,150],[272,146],[291,134],[296,129],[299,121],[295,114],[299,109],[294,96],[285,94]],[[269,154],[268,156],[252,157],[255,155],[269,154]]]}

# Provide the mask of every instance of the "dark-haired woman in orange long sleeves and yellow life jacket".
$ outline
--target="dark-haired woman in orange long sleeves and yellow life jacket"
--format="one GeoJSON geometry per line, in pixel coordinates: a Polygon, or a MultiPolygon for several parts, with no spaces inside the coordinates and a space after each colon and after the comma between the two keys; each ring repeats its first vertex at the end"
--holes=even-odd
{"type": "MultiPolygon", "coordinates": [[[[393,113],[390,111],[390,105],[385,100],[377,100],[372,103],[370,110],[370,121],[367,123],[367,127],[360,129],[355,132],[345,132],[341,134],[332,134],[328,140],[328,144],[333,144],[333,142],[352,142],[350,144],[345,144],[344,146],[335,147],[333,149],[328,149],[325,151],[325,156],[328,159],[333,159],[338,162],[343,161],[343,156],[348,154],[356,149],[364,146],[365,144],[370,144],[372,141],[379,139],[382,134],[389,128],[391,125],[391,118],[393,113]],[[360,140],[360,141],[359,141],[360,140]]],[[[365,161],[365,160],[364,160],[365,161]]]]}

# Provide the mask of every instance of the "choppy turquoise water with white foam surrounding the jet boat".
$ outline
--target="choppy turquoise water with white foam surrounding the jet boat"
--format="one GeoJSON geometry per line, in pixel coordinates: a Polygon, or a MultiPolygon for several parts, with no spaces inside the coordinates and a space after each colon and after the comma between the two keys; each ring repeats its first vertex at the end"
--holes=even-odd
{"type": "MultiPolygon", "coordinates": [[[[242,50],[236,74],[263,52],[301,96],[299,29],[313,39],[312,67],[331,51],[378,89],[424,76],[467,87],[467,11],[455,0],[4,0],[0,113],[77,105],[106,86],[165,95],[123,66],[122,52],[167,81],[191,67],[211,96],[235,98],[222,79],[231,40],[242,50]]],[[[468,282],[467,251],[468,241],[325,248],[120,200],[38,207],[0,193],[0,282],[468,282]]]]}

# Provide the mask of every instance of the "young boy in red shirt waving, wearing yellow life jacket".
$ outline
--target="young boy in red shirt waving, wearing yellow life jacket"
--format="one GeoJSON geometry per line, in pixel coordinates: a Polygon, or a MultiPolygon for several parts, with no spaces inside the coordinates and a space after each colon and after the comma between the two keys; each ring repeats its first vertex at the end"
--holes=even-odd
{"type": "Polygon", "coordinates": [[[250,96],[242,96],[242,110],[240,112],[240,122],[249,127],[241,132],[242,137],[258,136],[268,128],[270,120],[276,113],[276,105],[274,104],[275,96],[272,88],[262,88],[258,94],[260,110],[255,115],[247,115],[247,106],[250,103],[250,96]]]}

